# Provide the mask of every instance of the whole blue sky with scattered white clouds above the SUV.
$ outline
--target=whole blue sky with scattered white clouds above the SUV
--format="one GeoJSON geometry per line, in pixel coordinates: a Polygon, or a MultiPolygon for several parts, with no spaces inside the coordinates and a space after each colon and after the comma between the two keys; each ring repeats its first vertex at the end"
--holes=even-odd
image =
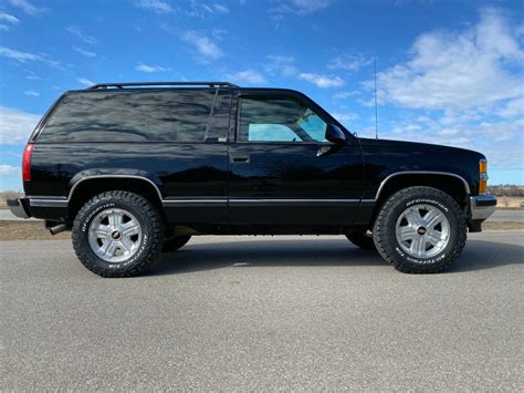
{"type": "MultiPolygon", "coordinates": [[[[227,80],[303,91],[361,136],[476,149],[524,184],[523,1],[0,1],[0,189],[70,89],[227,80]]],[[[446,157],[442,157],[446,159],[446,157]]]]}

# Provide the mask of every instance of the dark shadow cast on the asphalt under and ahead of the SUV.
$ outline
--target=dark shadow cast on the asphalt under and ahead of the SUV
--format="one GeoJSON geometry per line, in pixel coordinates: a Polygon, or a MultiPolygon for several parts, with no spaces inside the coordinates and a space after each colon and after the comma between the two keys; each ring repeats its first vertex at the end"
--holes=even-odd
{"type": "MultiPolygon", "coordinates": [[[[460,260],[448,271],[464,272],[524,263],[524,247],[469,240],[460,260]]],[[[147,276],[196,272],[227,267],[384,266],[376,251],[359,249],[345,239],[240,240],[189,242],[161,257],[147,276]]]]}

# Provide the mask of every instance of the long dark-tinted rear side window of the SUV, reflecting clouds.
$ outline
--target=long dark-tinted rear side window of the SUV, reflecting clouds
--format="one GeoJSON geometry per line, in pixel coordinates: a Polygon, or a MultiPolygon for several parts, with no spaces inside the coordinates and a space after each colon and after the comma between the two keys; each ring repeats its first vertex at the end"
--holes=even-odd
{"type": "Polygon", "coordinates": [[[66,95],[39,142],[199,142],[214,91],[85,92],[66,95]]]}

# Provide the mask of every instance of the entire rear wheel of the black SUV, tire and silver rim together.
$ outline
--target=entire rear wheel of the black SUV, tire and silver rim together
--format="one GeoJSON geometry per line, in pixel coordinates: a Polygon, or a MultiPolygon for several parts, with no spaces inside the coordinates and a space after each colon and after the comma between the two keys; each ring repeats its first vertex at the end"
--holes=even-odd
{"type": "Polygon", "coordinates": [[[103,277],[136,276],[158,258],[164,226],[157,208],[128,192],[107,192],[77,213],[73,247],[81,262],[103,277]]]}

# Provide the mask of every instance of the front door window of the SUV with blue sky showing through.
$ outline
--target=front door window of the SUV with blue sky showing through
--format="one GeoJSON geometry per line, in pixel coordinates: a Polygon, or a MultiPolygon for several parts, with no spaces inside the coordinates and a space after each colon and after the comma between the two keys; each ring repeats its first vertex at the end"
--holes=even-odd
{"type": "Polygon", "coordinates": [[[325,134],[326,123],[297,100],[241,100],[241,142],[325,142],[325,134]]]}

